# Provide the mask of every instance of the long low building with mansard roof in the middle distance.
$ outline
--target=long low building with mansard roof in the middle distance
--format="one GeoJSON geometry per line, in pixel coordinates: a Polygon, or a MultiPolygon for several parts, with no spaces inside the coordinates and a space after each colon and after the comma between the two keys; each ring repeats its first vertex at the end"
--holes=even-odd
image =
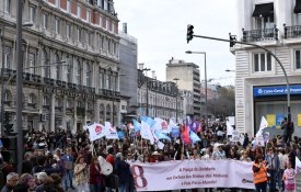
{"type": "Polygon", "coordinates": [[[159,81],[138,69],[138,116],[148,115],[169,120],[183,118],[183,97],[172,81],[159,81]]]}

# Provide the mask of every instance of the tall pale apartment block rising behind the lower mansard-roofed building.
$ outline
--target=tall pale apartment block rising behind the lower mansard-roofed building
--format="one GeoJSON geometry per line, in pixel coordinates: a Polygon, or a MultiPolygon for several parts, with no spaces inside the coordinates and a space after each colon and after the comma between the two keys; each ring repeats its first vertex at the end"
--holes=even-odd
{"type": "Polygon", "coordinates": [[[193,63],[185,63],[172,58],[166,64],[166,81],[174,81],[177,78],[180,90],[190,91],[194,95],[194,115],[195,118],[200,118],[200,79],[199,67],[193,63]]]}

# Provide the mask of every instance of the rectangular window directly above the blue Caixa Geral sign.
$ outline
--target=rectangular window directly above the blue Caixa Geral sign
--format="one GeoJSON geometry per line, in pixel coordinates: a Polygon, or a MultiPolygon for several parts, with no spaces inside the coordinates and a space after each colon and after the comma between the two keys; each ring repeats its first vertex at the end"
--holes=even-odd
{"type": "Polygon", "coordinates": [[[271,71],[271,55],[268,53],[254,54],[254,71],[271,71]]]}

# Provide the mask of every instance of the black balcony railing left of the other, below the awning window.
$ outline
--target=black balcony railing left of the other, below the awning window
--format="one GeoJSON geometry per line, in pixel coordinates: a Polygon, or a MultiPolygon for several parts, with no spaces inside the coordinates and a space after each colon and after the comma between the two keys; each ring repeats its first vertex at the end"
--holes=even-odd
{"type": "Polygon", "coordinates": [[[251,30],[243,31],[243,42],[266,42],[278,39],[278,29],[263,29],[263,30],[251,30]]]}

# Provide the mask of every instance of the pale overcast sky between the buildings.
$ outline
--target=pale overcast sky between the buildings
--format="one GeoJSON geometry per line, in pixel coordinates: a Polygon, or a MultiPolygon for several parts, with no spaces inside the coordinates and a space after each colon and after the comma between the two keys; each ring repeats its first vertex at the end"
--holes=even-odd
{"type": "MultiPolygon", "coordinates": [[[[119,30],[128,25],[128,34],[138,39],[138,63],[155,70],[165,81],[165,64],[174,57],[200,66],[204,79],[204,55],[187,55],[185,50],[206,52],[207,79],[219,79],[223,86],[234,84],[234,55],[229,43],[196,38],[187,44],[187,24],[196,35],[229,38],[236,34],[236,0],[114,0],[119,30]]],[[[150,76],[150,74],[149,74],[150,76]]],[[[181,78],[181,77],[178,77],[181,78]]]]}

